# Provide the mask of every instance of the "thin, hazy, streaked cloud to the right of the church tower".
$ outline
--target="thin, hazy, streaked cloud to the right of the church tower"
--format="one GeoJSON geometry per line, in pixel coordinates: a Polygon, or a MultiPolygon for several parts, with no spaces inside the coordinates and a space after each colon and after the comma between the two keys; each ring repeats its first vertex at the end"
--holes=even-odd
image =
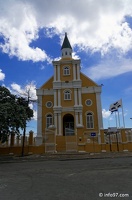
{"type": "Polygon", "coordinates": [[[132,59],[107,59],[98,65],[83,68],[83,72],[94,80],[115,77],[127,72],[132,72],[132,59]]]}

